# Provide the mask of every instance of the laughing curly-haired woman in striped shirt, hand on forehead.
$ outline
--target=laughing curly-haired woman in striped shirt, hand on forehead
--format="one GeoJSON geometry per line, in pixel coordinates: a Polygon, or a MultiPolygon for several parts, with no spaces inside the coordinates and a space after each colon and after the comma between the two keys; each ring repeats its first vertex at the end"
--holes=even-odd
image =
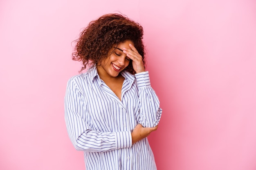
{"type": "Polygon", "coordinates": [[[143,28],[120,14],[90,22],[73,60],[87,72],[67,83],[65,121],[86,170],[155,170],[147,136],[162,114],[144,67],[143,28]]]}

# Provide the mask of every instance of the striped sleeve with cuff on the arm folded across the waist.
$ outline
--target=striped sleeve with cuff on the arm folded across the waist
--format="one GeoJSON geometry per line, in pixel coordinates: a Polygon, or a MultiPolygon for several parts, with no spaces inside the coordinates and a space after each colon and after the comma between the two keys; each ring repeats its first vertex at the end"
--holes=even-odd
{"type": "Polygon", "coordinates": [[[132,146],[130,131],[99,132],[92,128],[86,101],[76,81],[70,79],[65,94],[65,122],[70,140],[76,150],[104,152],[132,146]]]}

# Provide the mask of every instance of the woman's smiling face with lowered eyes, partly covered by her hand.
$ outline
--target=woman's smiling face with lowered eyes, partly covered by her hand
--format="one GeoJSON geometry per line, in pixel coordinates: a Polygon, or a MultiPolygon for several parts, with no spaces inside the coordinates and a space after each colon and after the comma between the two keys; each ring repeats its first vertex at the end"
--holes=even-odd
{"type": "Polygon", "coordinates": [[[109,57],[103,59],[100,65],[97,66],[97,70],[101,78],[117,77],[118,74],[129,65],[130,58],[123,52],[123,48],[131,49],[129,44],[133,45],[132,41],[126,40],[118,44],[117,47],[109,50],[109,57]]]}

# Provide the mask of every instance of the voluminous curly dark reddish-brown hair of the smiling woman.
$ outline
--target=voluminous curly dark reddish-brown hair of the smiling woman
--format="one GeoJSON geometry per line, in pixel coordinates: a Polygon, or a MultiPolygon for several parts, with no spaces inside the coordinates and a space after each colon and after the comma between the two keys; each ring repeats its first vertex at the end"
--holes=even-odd
{"type": "MultiPolygon", "coordinates": [[[[108,57],[109,51],[118,44],[130,40],[144,61],[143,28],[140,24],[130,20],[121,14],[106,14],[88,24],[80,33],[79,39],[75,40],[76,46],[72,53],[72,60],[82,61],[83,67],[98,65],[108,57]]],[[[128,72],[135,74],[132,60],[126,67],[128,72]]]]}

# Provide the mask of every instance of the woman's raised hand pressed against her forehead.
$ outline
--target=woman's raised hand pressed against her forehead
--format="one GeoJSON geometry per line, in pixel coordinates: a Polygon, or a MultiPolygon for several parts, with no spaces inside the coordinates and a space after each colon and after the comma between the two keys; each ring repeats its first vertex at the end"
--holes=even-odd
{"type": "Polygon", "coordinates": [[[141,55],[132,44],[129,44],[129,46],[131,49],[123,48],[123,52],[132,60],[133,69],[136,73],[145,72],[141,55]]]}

